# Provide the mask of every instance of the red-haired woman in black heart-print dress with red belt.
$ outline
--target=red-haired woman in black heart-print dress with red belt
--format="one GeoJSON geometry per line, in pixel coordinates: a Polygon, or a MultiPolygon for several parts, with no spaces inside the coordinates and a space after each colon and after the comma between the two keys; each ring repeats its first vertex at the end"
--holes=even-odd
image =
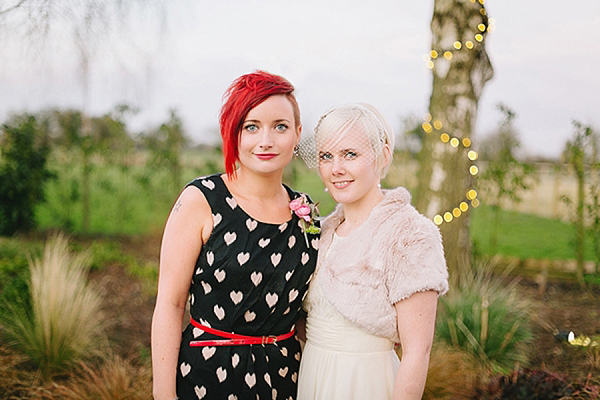
{"type": "Polygon", "coordinates": [[[236,79],[220,116],[226,174],[195,179],[171,210],[152,320],[155,399],[296,396],[294,326],[318,229],[307,196],[282,183],[302,130],[293,90],[262,71],[236,79]]]}

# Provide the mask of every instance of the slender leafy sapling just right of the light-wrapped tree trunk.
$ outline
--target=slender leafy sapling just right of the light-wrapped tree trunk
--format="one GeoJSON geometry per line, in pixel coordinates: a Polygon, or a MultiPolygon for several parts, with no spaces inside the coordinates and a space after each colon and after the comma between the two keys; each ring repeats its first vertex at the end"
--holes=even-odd
{"type": "Polygon", "coordinates": [[[523,191],[531,188],[535,166],[519,161],[516,152],[521,146],[518,133],[513,127],[516,114],[503,104],[498,109],[504,115],[498,130],[481,141],[479,152],[487,161],[479,175],[479,184],[486,193],[486,202],[492,210],[490,249],[497,250],[500,211],[505,200],[521,201],[523,191]]]}

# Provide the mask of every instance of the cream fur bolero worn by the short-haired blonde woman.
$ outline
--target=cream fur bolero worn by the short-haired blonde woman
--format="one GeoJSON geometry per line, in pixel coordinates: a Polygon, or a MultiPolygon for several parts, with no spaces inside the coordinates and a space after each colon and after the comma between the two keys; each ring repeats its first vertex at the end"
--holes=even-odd
{"type": "Polygon", "coordinates": [[[343,221],[338,205],[321,223],[316,273],[323,292],[362,329],[399,342],[394,303],[417,292],[448,291],[440,232],[402,187],[385,190],[369,218],[325,257],[343,221]]]}

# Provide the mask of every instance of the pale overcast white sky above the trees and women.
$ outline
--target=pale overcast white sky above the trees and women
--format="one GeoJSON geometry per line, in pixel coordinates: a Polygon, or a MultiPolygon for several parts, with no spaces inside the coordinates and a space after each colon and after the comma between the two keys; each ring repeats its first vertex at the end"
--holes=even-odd
{"type": "MultiPolygon", "coordinates": [[[[487,0],[486,8],[494,78],[473,141],[498,126],[498,103],[516,113],[524,155],[558,158],[573,120],[600,130],[600,1],[487,0]]],[[[194,142],[214,143],[223,92],[256,69],[294,84],[305,131],[337,104],[371,103],[396,131],[427,113],[433,0],[169,0],[130,11],[86,42],[87,80],[69,18],[54,21],[44,41],[15,33],[17,14],[5,20],[0,121],[47,107],[100,115],[128,103],[140,109],[136,131],[176,109],[194,142]]]]}

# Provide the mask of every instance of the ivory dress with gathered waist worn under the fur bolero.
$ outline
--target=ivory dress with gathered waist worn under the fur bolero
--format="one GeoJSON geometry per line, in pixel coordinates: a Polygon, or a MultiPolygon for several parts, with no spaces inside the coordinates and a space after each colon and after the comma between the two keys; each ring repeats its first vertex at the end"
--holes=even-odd
{"type": "MultiPolygon", "coordinates": [[[[345,240],[334,235],[327,254],[345,240]]],[[[391,399],[400,360],[394,343],[353,324],[325,297],[315,273],[304,300],[307,341],[298,400],[391,399]]]]}

